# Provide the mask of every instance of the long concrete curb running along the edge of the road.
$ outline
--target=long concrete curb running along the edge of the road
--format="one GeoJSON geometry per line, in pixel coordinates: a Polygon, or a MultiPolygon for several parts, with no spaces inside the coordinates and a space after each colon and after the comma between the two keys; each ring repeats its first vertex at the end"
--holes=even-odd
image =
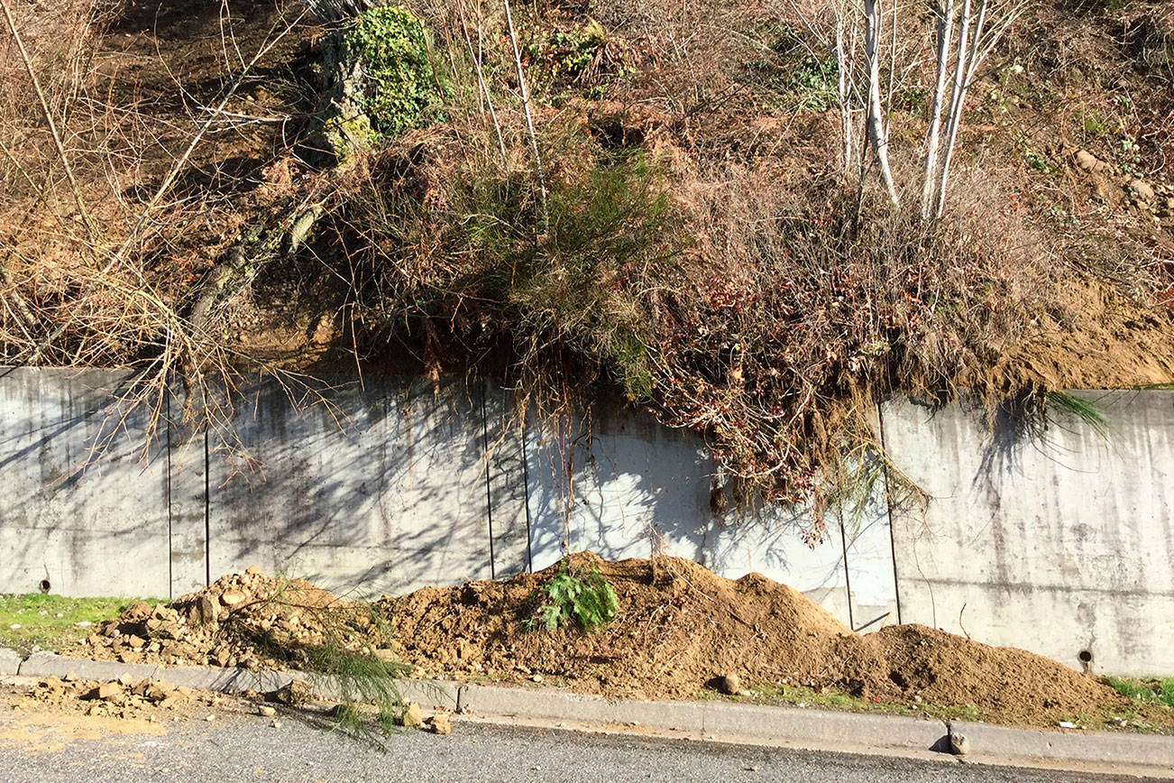
{"type": "MultiPolygon", "coordinates": [[[[0,649],[0,675],[29,677],[76,674],[86,680],[166,680],[176,686],[243,693],[270,691],[292,680],[309,681],[325,698],[338,700],[342,689],[328,677],[299,671],[252,671],[201,666],[153,666],[66,657],[35,653],[21,661],[0,649]],[[18,666],[19,664],[19,666],[18,666]]],[[[728,702],[626,701],[571,694],[548,688],[479,686],[437,680],[399,680],[400,695],[425,707],[472,713],[501,722],[571,722],[583,727],[639,725],[677,737],[713,738],[745,744],[778,744],[807,750],[888,752],[925,757],[949,756],[950,734],[965,737],[967,754],[978,763],[1043,762],[1051,765],[1093,764],[1127,767],[1132,771],[1174,775],[1174,737],[1108,731],[1039,731],[987,723],[865,713],[836,713],[789,707],[760,707],[728,702]]]]}

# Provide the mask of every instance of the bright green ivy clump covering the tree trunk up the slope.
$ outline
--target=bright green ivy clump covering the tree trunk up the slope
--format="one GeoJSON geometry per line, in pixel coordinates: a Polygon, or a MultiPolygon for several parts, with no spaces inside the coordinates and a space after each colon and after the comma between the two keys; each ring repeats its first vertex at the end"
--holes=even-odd
{"type": "Polygon", "coordinates": [[[423,22],[400,6],[379,6],[356,20],[346,38],[367,79],[364,108],[375,131],[398,136],[438,119],[445,87],[429,56],[423,22]]]}

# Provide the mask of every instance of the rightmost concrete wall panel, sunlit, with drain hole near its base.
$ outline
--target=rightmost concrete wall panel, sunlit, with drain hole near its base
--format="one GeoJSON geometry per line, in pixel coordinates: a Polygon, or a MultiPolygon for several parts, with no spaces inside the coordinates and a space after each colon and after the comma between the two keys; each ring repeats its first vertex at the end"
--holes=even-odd
{"type": "Polygon", "coordinates": [[[1174,673],[1174,392],[1082,392],[1060,420],[884,406],[890,457],[932,499],[893,513],[902,619],[1074,668],[1174,673]],[[993,434],[992,434],[993,433],[993,434]]]}

